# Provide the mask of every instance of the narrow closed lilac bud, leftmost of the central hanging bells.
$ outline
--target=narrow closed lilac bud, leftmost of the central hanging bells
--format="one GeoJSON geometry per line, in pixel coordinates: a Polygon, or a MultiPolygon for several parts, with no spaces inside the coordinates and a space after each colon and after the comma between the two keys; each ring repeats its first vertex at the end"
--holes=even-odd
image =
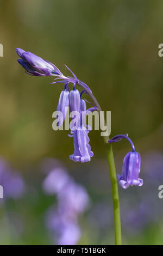
{"type": "Polygon", "coordinates": [[[68,106],[69,106],[69,90],[68,90],[68,83],[65,84],[65,90],[63,90],[59,97],[59,102],[57,106],[57,111],[60,111],[60,114],[58,115],[58,123],[57,126],[60,127],[65,120],[68,106]]]}

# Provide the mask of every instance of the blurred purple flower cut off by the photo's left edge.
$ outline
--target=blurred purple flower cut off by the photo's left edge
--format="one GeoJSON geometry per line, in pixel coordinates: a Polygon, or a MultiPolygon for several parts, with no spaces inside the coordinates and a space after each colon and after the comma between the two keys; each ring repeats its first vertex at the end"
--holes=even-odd
{"type": "Polygon", "coordinates": [[[12,170],[3,159],[0,159],[0,185],[3,186],[4,199],[21,198],[25,191],[25,184],[21,174],[12,170]]]}

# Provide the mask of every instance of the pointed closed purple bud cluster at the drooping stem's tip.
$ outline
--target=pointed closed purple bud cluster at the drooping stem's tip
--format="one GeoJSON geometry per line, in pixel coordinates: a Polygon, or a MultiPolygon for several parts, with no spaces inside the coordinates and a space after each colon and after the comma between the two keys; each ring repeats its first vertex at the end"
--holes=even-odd
{"type": "Polygon", "coordinates": [[[21,57],[17,61],[23,66],[27,74],[33,76],[62,75],[54,64],[36,56],[32,52],[25,52],[21,48],[16,48],[16,52],[21,57]]]}

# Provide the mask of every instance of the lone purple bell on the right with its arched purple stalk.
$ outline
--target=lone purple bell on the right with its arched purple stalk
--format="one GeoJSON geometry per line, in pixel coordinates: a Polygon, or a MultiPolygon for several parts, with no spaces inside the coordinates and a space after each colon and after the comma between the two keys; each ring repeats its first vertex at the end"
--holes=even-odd
{"type": "Polygon", "coordinates": [[[111,138],[108,142],[118,142],[122,138],[127,138],[133,148],[132,152],[127,153],[123,160],[122,175],[117,174],[118,183],[123,188],[128,188],[129,186],[142,186],[143,180],[139,179],[139,173],[141,168],[141,156],[135,151],[133,142],[127,135],[117,135],[111,138]]]}

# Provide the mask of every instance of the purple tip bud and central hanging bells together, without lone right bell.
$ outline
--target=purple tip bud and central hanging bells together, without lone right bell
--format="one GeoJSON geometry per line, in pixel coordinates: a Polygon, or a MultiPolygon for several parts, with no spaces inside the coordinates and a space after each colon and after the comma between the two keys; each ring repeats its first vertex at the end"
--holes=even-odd
{"type": "MultiPolygon", "coordinates": [[[[90,161],[93,153],[89,144],[90,139],[88,137],[88,133],[91,129],[89,126],[84,126],[84,118],[86,114],[96,111],[97,107],[92,106],[91,108],[86,109],[86,101],[81,99],[83,93],[90,93],[92,95],[90,88],[87,86],[87,84],[78,80],[77,76],[66,65],[66,68],[71,72],[73,77],[64,76],[54,64],[40,58],[39,56],[36,56],[32,52],[25,52],[21,48],[16,48],[16,52],[18,56],[21,57],[21,59],[18,59],[18,63],[23,66],[27,74],[33,76],[56,76],[57,78],[54,79],[52,84],[65,83],[65,90],[63,90],[60,94],[57,107],[57,111],[62,113],[62,115],[57,115],[57,118],[59,119],[57,126],[61,126],[64,122],[66,113],[68,111],[68,105],[70,103],[71,113],[76,112],[76,114],[73,113],[74,116],[72,117],[70,125],[71,136],[74,140],[74,154],[70,156],[70,159],[75,162],[90,161]],[[71,90],[70,93],[69,89],[67,89],[69,83],[73,84],[73,90],[71,90]],[[79,93],[79,90],[76,89],[76,85],[83,88],[81,94],[79,93]],[[82,112],[84,112],[84,115],[82,112]]],[[[93,97],[93,99],[96,101],[95,97],[93,97]]]]}

